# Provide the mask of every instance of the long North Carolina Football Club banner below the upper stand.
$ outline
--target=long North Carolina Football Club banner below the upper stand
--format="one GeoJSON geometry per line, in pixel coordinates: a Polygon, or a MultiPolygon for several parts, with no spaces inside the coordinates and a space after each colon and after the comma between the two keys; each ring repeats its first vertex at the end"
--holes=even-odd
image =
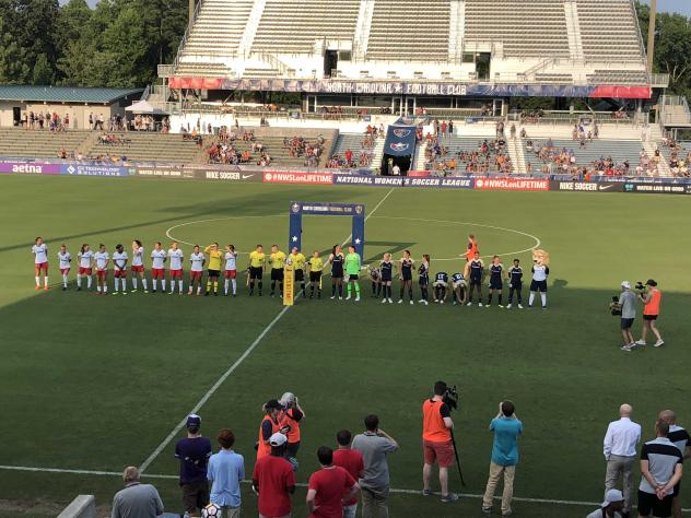
{"type": "Polygon", "coordinates": [[[449,82],[171,78],[172,89],[303,92],[312,94],[443,95],[476,97],[651,98],[651,87],[617,85],[468,84],[449,82]]]}

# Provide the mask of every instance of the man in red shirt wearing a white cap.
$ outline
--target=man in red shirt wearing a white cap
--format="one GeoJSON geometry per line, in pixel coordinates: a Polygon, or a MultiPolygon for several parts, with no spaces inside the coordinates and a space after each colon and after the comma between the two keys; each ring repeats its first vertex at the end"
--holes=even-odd
{"type": "Polygon", "coordinates": [[[295,493],[293,466],[283,458],[288,438],[276,433],[269,438],[271,454],[255,464],[251,484],[259,495],[259,518],[288,518],[291,516],[291,497],[295,493]]]}

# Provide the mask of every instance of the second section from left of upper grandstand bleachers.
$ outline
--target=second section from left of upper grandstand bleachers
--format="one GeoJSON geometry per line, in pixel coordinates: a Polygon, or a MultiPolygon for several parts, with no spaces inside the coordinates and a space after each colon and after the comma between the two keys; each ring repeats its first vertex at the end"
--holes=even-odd
{"type": "Polygon", "coordinates": [[[360,0],[267,0],[253,51],[312,54],[319,39],[351,39],[360,0]]]}

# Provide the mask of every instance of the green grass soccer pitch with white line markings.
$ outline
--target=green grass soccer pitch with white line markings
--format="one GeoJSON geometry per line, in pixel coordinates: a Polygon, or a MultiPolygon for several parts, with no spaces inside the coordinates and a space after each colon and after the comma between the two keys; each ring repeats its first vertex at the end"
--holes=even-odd
{"type": "MultiPolygon", "coordinates": [[[[248,471],[261,403],[285,390],[307,413],[301,482],[317,467],[318,446],[335,444],[342,427],[361,431],[362,417],[374,412],[401,444],[390,457],[391,485],[420,490],[420,405],[437,379],[462,388],[454,417],[468,486],[453,476],[452,488],[468,495],[484,490],[487,426],[505,398],[516,402],[525,425],[519,498],[600,502],[602,437],[624,401],[646,439],[664,408],[691,426],[686,198],[8,175],[0,177],[0,516],[54,516],[80,493],[95,494],[107,511],[120,487],[117,476],[8,467],[119,472],[141,464],[282,310],[276,298],[247,297],[244,276],[235,299],[98,297],[59,289],[36,294],[34,237],[50,247],[57,285],[60,243],[73,256],[81,243],[104,243],[112,251],[139,238],[150,249],[169,236],[233,243],[242,251],[257,243],[284,246],[291,200],[360,202],[368,211],[378,204],[366,223],[365,259],[410,248],[415,258],[432,256],[433,272],[461,268],[460,259],[447,259],[464,251],[468,232],[478,235],[483,255],[527,250],[535,236],[551,254],[550,308],[383,306],[368,298],[368,283],[360,304],[298,301],[200,410],[204,434],[226,426],[236,432],[248,471]],[[624,353],[607,305],[622,280],[648,278],[664,292],[659,327],[667,344],[624,353]]],[[[349,225],[307,217],[304,249],[343,242],[349,225]]],[[[529,252],[517,257],[529,263],[529,252]]],[[[147,472],[176,474],[172,444],[147,472]]],[[[150,481],[167,510],[179,511],[176,480],[150,481]]],[[[255,497],[245,490],[244,515],[251,516],[255,497]]],[[[304,516],[304,495],[301,488],[293,516],[304,516]]],[[[689,491],[682,505],[691,507],[689,491]]],[[[593,509],[517,501],[514,510],[579,517],[593,509]]],[[[476,497],[446,506],[417,494],[391,496],[394,517],[480,515],[476,497]]]]}

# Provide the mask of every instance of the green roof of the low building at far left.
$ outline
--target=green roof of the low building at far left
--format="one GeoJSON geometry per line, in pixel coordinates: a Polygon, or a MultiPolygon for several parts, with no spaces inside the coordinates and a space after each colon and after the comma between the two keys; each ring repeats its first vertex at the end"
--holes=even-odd
{"type": "Polygon", "coordinates": [[[75,86],[0,85],[0,101],[113,104],[141,95],[143,89],[81,89],[75,86]]]}

